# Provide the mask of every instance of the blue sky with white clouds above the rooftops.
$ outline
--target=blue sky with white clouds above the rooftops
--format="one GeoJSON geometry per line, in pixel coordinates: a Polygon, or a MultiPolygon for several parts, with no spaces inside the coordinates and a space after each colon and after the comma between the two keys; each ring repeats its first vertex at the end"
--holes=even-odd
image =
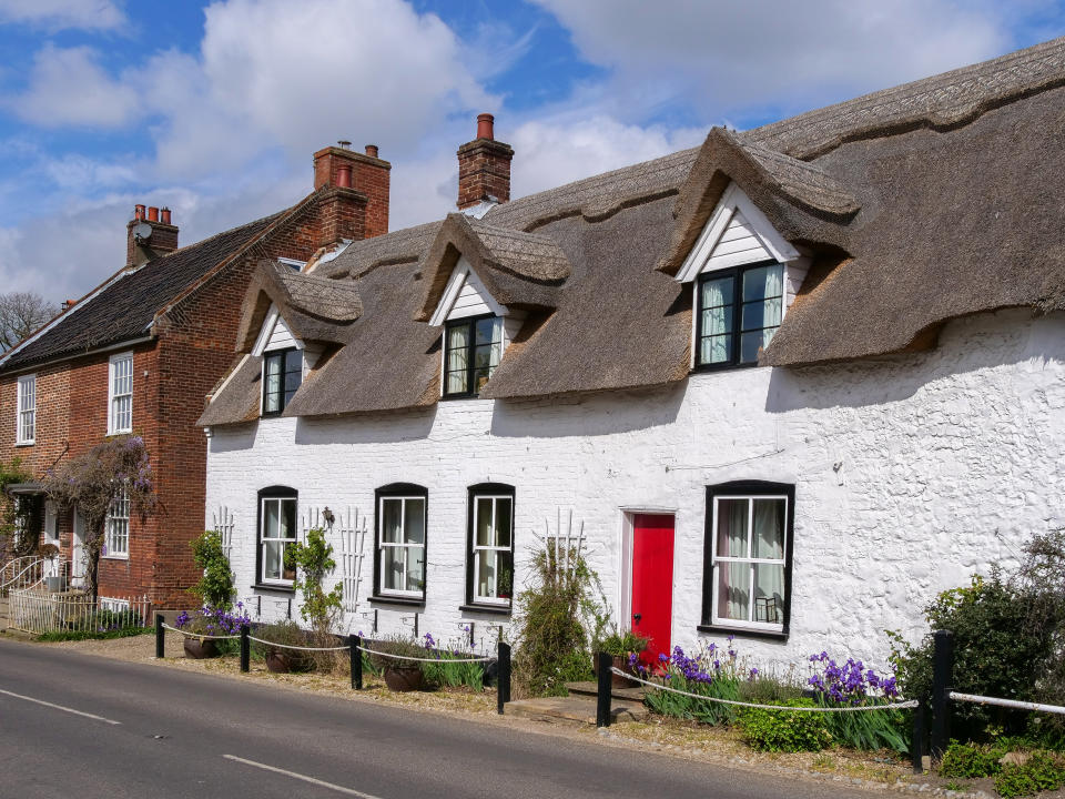
{"type": "Polygon", "coordinates": [[[182,243],[287,206],[337,139],[393,163],[396,229],[453,209],[481,111],[519,196],[1063,33],[1048,0],[0,0],[0,292],[84,294],[138,202],[182,243]]]}

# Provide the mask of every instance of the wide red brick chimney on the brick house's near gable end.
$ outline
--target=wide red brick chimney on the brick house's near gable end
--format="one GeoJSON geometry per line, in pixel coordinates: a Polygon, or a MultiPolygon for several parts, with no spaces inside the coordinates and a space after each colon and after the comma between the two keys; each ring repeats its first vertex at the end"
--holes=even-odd
{"type": "Polygon", "coordinates": [[[388,232],[388,188],[392,164],[377,158],[377,145],[366,152],[337,142],[314,154],[314,189],[324,190],[321,245],[341,239],[372,239],[388,232]]]}

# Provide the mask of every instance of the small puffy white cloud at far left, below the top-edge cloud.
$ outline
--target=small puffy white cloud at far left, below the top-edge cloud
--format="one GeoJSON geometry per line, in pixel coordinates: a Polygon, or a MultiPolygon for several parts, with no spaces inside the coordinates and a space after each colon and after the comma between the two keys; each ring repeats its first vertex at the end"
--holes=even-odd
{"type": "Polygon", "coordinates": [[[88,47],[45,44],[33,57],[28,89],[7,104],[41,128],[116,128],[139,113],[136,89],[109,75],[88,47]]]}

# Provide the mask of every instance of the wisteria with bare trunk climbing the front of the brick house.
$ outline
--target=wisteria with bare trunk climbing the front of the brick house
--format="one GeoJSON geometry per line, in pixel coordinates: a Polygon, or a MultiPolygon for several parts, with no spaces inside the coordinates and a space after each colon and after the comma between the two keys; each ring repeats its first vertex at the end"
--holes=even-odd
{"type": "Polygon", "coordinates": [[[85,519],[85,593],[97,596],[97,569],[104,545],[108,510],[125,492],[131,513],[141,518],[155,512],[155,478],[144,439],[112,436],[49,469],[44,492],[61,508],[77,507],[85,519]]]}

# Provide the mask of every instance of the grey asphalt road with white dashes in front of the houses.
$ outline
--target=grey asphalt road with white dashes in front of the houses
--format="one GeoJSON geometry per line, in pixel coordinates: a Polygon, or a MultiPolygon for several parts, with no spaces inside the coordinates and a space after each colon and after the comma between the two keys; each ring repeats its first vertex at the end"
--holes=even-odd
{"type": "Polygon", "coordinates": [[[0,640],[0,799],[871,796],[0,640]]]}

